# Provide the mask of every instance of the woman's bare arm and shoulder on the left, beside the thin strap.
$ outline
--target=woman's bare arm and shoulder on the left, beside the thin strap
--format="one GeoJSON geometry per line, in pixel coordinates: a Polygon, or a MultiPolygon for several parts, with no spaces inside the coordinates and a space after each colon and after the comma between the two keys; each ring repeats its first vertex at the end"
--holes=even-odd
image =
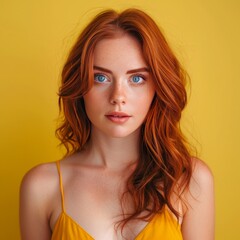
{"type": "Polygon", "coordinates": [[[50,240],[49,171],[46,165],[30,170],[20,188],[20,230],[22,240],[50,240]]]}

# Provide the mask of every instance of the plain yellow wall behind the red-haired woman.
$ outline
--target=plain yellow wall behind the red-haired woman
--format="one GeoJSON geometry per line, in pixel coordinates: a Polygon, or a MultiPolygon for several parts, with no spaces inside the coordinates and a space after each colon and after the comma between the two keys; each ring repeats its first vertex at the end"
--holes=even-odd
{"type": "Polygon", "coordinates": [[[238,0],[0,1],[0,239],[20,239],[24,173],[61,157],[54,136],[60,69],[82,26],[109,7],[150,13],[187,68],[183,127],[215,176],[216,239],[240,239],[238,0]]]}

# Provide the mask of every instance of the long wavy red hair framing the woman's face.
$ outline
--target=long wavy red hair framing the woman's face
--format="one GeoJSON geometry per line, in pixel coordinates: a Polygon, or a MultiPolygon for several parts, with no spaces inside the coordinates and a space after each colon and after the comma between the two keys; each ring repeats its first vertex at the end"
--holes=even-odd
{"type": "Polygon", "coordinates": [[[191,155],[179,126],[187,102],[187,74],[149,15],[137,9],[120,13],[107,10],[85,27],[62,70],[59,89],[62,122],[56,134],[66,147],[67,155],[85,148],[91,137],[91,123],[83,96],[93,84],[94,48],[100,40],[116,37],[119,30],[141,44],[156,90],[141,126],[140,160],[127,181],[134,211],[124,215],[122,223],[125,225],[136,218],[147,220],[165,205],[179,217],[171,196],[176,194],[181,198],[192,175],[191,155]]]}

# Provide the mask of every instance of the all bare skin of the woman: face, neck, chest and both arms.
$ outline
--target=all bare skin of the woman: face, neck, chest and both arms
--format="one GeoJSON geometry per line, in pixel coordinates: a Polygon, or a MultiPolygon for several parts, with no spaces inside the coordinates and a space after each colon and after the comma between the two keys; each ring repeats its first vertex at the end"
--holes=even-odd
{"type": "MultiPolygon", "coordinates": [[[[100,41],[94,52],[94,66],[95,83],[84,97],[92,122],[90,142],[84,151],[61,161],[65,207],[67,214],[94,239],[123,239],[114,223],[122,212],[120,196],[125,182],[138,161],[140,126],[154,97],[154,86],[139,43],[126,34],[100,41]],[[116,112],[124,112],[129,118],[119,122],[107,117],[116,112]]],[[[183,197],[186,204],[172,196],[173,205],[182,209],[184,240],[213,240],[213,177],[203,162],[193,162],[190,188],[183,197]]],[[[124,210],[131,209],[128,196],[124,210]]],[[[55,163],[30,170],[20,192],[22,239],[51,239],[61,211],[55,163]]],[[[131,222],[124,228],[124,235],[134,239],[146,224],[131,222]]]]}

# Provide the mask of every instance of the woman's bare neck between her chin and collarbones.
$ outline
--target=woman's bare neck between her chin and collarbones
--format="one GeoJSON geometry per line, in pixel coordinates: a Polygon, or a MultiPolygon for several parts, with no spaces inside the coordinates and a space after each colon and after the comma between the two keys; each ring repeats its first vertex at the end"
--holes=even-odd
{"type": "Polygon", "coordinates": [[[127,137],[113,138],[92,129],[88,145],[92,164],[115,170],[122,170],[139,159],[140,129],[127,137]]]}

